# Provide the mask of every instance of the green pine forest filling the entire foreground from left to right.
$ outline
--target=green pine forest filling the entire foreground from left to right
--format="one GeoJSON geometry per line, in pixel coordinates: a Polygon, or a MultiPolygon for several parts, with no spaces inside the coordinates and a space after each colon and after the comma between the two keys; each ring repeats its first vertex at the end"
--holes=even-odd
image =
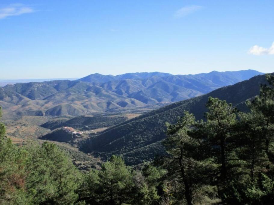
{"type": "Polygon", "coordinates": [[[167,123],[167,155],[135,167],[113,155],[80,171],[57,145],[5,137],[0,124],[1,204],[272,204],[274,75],[248,112],[208,98],[206,120],[167,123]]]}

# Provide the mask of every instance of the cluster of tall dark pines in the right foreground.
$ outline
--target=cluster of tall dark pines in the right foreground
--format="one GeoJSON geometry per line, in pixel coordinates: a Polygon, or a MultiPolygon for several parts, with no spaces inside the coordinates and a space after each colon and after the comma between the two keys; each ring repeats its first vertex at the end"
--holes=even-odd
{"type": "Polygon", "coordinates": [[[249,112],[209,98],[206,121],[185,112],[164,140],[174,201],[271,204],[274,197],[274,77],[266,75],[249,112]],[[184,197],[178,193],[184,194],[184,197]]]}

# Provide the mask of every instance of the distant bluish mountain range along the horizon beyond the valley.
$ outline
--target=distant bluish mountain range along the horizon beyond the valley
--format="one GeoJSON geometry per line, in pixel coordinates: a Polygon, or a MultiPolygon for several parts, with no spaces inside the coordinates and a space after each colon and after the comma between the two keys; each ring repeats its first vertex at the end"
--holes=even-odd
{"type": "Polygon", "coordinates": [[[254,70],[172,75],[91,74],[79,80],[16,83],[0,87],[5,113],[79,116],[123,110],[146,111],[193,98],[262,74],[254,70]]]}

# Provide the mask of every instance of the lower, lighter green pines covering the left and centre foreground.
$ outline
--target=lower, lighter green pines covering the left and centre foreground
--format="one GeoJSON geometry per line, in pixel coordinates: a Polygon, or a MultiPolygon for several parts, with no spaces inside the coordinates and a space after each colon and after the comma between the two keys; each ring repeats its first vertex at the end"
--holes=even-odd
{"type": "Polygon", "coordinates": [[[153,182],[160,174],[152,170],[135,171],[112,156],[100,170],[80,171],[55,144],[12,144],[0,124],[0,204],[149,204],[160,199],[153,182]]]}

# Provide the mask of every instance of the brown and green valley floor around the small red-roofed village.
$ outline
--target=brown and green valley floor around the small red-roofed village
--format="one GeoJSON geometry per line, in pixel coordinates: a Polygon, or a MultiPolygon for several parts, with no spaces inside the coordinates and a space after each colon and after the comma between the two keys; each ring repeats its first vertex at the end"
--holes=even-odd
{"type": "MultiPolygon", "coordinates": [[[[14,144],[22,144],[27,140],[34,140],[39,144],[45,141],[50,141],[57,144],[61,149],[67,152],[73,163],[80,170],[89,170],[90,168],[100,169],[102,163],[100,158],[95,158],[90,154],[85,154],[78,149],[78,143],[92,135],[98,135],[100,132],[116,125],[120,122],[133,119],[139,116],[139,113],[124,113],[124,114],[100,114],[100,115],[87,115],[87,116],[17,116],[15,114],[3,113],[2,122],[6,125],[6,136],[12,140],[14,144]],[[84,121],[83,121],[84,120],[84,121]],[[66,124],[70,122],[71,124],[66,124]],[[57,127],[54,130],[42,127],[41,125],[47,124],[57,127]],[[74,123],[74,124],[73,124],[74,123]],[[84,127],[81,125],[85,124],[84,127]],[[43,140],[42,137],[60,130],[62,126],[68,125],[75,127],[75,131],[81,131],[81,135],[77,138],[77,143],[60,142],[52,140],[43,140]],[[110,125],[110,126],[105,126],[110,125]],[[80,128],[80,129],[77,129],[80,128]],[[84,128],[84,129],[81,129],[84,128]],[[91,128],[91,129],[89,129],[91,128]]],[[[60,136],[62,138],[62,136],[60,136]]],[[[76,141],[76,140],[75,140],[76,141]]]]}

